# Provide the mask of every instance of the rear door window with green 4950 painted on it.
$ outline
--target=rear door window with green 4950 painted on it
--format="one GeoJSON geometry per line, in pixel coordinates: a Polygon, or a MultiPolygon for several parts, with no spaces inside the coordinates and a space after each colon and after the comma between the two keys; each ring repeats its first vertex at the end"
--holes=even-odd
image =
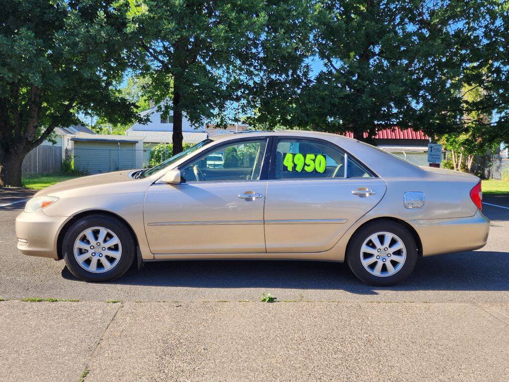
{"type": "Polygon", "coordinates": [[[345,152],[317,141],[279,139],[276,179],[344,178],[345,152]]]}

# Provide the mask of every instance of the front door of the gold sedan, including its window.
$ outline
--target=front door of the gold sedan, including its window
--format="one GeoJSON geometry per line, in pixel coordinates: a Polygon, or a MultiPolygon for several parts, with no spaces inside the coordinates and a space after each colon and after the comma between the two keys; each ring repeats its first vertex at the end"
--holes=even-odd
{"type": "Polygon", "coordinates": [[[154,254],[264,253],[266,139],[239,140],[179,168],[183,183],[147,190],[144,220],[154,254]]]}

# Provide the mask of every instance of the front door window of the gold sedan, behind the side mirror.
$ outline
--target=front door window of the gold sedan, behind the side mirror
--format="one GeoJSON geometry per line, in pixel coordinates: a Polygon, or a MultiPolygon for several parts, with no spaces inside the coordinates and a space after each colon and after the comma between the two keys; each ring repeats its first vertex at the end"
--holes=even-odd
{"type": "Polygon", "coordinates": [[[220,146],[180,169],[186,182],[259,180],[267,140],[220,146]]]}

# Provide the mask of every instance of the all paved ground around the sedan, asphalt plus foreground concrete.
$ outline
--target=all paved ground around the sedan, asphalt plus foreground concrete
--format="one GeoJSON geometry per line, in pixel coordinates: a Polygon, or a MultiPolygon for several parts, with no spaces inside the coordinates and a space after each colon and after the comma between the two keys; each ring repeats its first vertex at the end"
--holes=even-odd
{"type": "Polygon", "coordinates": [[[509,209],[483,207],[483,249],[421,259],[389,288],[311,261],[147,263],[92,284],[19,254],[30,193],[3,191],[0,381],[509,380],[509,209]]]}

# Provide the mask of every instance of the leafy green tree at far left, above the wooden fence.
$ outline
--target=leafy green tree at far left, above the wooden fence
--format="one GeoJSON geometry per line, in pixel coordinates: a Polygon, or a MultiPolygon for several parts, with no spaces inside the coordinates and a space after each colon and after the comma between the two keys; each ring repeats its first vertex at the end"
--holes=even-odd
{"type": "Polygon", "coordinates": [[[132,58],[123,0],[6,0],[0,18],[0,186],[21,185],[24,156],[93,110],[121,122],[134,103],[112,85],[132,58]]]}

